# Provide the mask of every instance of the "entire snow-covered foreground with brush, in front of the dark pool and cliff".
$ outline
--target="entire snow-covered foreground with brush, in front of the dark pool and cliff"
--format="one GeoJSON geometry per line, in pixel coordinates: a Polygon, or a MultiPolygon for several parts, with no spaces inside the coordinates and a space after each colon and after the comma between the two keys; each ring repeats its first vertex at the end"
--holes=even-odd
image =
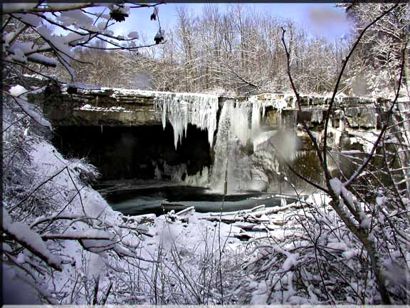
{"type": "Polygon", "coordinates": [[[370,252],[381,260],[392,302],[409,295],[405,197],[375,190],[375,203],[360,200],[332,179],[341,197],[334,207],[314,194],[278,207],[125,216],[90,187],[93,166],[64,158],[22,115],[36,112],[25,93],[12,88],[19,99],[3,106],[6,303],[380,303],[370,252]],[[377,249],[364,249],[346,221],[377,249]]]}

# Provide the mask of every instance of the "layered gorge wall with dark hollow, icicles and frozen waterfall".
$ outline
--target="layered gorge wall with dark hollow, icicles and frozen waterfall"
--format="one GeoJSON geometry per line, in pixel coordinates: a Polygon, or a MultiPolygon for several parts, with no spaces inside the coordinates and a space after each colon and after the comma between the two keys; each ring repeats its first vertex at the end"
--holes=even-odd
{"type": "MultiPolygon", "coordinates": [[[[102,180],[161,179],[209,185],[227,193],[310,190],[293,165],[320,183],[322,175],[303,118],[322,138],[330,98],[263,93],[221,98],[196,93],[49,87],[43,111],[56,128],[55,145],[88,157],[102,180]]],[[[330,146],[368,150],[380,125],[383,99],[339,97],[330,116],[330,146]]],[[[353,154],[352,154],[353,155],[353,154]]],[[[335,161],[344,158],[335,154],[335,161]]],[[[349,173],[349,161],[334,165],[349,173]]]]}

